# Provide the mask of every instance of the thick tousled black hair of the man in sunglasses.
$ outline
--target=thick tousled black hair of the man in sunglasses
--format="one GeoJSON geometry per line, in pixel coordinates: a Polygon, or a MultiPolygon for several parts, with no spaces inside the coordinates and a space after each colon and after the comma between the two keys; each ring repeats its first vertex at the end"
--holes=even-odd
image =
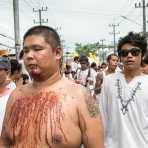
{"type": "Polygon", "coordinates": [[[144,56],[147,50],[147,41],[145,36],[140,33],[129,32],[128,35],[119,39],[117,47],[118,53],[121,50],[122,46],[126,43],[139,47],[142,50],[142,56],[144,56]]]}

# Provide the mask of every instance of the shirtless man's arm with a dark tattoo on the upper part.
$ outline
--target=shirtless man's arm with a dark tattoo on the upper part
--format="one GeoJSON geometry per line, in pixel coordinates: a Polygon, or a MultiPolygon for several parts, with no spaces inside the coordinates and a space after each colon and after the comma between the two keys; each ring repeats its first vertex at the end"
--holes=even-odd
{"type": "Polygon", "coordinates": [[[96,101],[84,90],[78,107],[84,148],[104,148],[104,134],[96,101]]]}

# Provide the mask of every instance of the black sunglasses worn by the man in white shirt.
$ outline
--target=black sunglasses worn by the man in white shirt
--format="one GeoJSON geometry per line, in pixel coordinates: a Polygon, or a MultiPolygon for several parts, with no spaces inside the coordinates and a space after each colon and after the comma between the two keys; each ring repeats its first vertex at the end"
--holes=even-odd
{"type": "Polygon", "coordinates": [[[132,56],[138,56],[141,52],[141,49],[136,47],[131,49],[121,49],[118,54],[120,57],[127,57],[129,52],[131,53],[132,56]]]}

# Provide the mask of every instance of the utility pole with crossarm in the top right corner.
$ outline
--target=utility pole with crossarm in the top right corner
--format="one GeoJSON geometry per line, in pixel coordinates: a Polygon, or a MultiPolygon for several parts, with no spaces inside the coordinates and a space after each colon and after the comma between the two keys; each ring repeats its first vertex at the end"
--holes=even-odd
{"type": "Polygon", "coordinates": [[[143,35],[146,37],[146,7],[145,0],[142,0],[142,4],[139,2],[138,4],[135,3],[135,8],[142,8],[143,9],[143,35]]]}

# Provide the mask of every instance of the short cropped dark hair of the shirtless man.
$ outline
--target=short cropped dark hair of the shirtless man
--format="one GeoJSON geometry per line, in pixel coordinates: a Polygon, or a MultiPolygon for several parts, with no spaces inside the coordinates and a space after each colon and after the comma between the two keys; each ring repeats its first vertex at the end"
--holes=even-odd
{"type": "Polygon", "coordinates": [[[23,41],[28,36],[31,35],[40,35],[44,37],[45,41],[50,44],[50,46],[53,48],[53,50],[57,47],[61,47],[61,41],[60,36],[56,32],[55,29],[49,27],[49,26],[34,26],[30,28],[24,35],[23,41]]]}

